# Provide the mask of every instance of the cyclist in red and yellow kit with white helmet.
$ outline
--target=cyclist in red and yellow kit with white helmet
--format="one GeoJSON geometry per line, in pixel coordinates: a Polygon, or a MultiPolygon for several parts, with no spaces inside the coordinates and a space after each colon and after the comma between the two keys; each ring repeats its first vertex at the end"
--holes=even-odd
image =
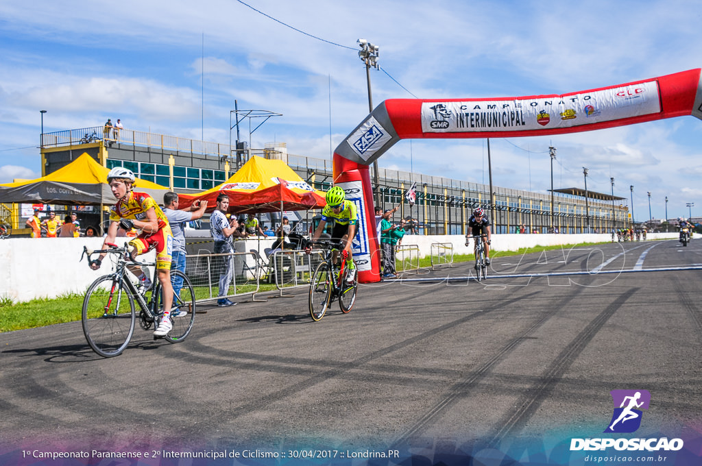
{"type": "MultiPolygon", "coordinates": [[[[150,246],[156,248],[156,269],[158,271],[159,283],[163,288],[164,315],[159,322],[154,336],[164,336],[171,328],[171,305],[173,304],[173,286],[171,285],[171,253],[173,252],[173,234],[168,225],[168,218],[161,211],[154,198],[145,192],[133,191],[135,176],[131,170],[122,167],[114,167],[107,175],[107,182],[110,183],[112,194],[117,199],[110,209],[110,226],[107,227],[106,244],[114,243],[117,237],[117,228],[122,227],[126,231],[133,227],[141,229],[142,233],[129,241],[132,258],[143,254],[150,246]]],[[[105,246],[103,246],[105,248],[105,246]]],[[[91,266],[97,270],[100,268],[100,261],[105,254],[100,254],[100,258],[91,266]]],[[[150,286],[148,277],[143,270],[137,267],[131,269],[142,281],[145,288],[150,286]]]]}

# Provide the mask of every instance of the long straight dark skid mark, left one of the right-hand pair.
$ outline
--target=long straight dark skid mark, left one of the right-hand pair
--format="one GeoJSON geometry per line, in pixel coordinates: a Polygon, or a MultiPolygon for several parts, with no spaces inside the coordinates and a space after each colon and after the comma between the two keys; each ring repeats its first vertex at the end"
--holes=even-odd
{"type": "MultiPolygon", "coordinates": [[[[453,387],[451,387],[451,390],[449,394],[444,397],[444,399],[440,400],[437,404],[435,404],[434,407],[430,408],[426,413],[419,418],[415,424],[409,428],[409,430],[406,430],[404,434],[402,434],[400,437],[395,439],[395,441],[392,442],[393,445],[398,446],[406,443],[407,440],[409,440],[411,437],[415,437],[416,435],[420,434],[423,432],[427,427],[430,427],[435,420],[442,415],[442,413],[449,408],[450,406],[453,406],[453,404],[456,403],[459,399],[465,397],[473,388],[477,387],[477,385],[486,378],[489,373],[492,371],[492,369],[499,364],[501,361],[505,359],[505,357],[508,356],[512,351],[514,351],[517,346],[519,346],[519,343],[521,343],[524,338],[529,337],[531,333],[534,333],[538,328],[543,326],[551,317],[555,316],[558,312],[560,312],[560,309],[563,309],[566,307],[569,302],[574,300],[575,298],[578,297],[580,293],[583,292],[583,288],[578,287],[576,288],[576,291],[574,293],[571,293],[571,295],[567,296],[566,298],[563,298],[557,305],[553,307],[553,311],[547,312],[541,316],[541,319],[538,319],[538,321],[534,322],[534,324],[531,324],[528,328],[526,328],[522,333],[520,333],[517,337],[512,338],[507,345],[505,345],[502,349],[500,349],[489,361],[486,361],[482,366],[480,366],[476,371],[473,371],[467,378],[464,378],[460,382],[456,382],[453,387]]],[[[523,299],[523,298],[520,298],[523,299]]],[[[503,307],[502,305],[498,308],[503,307]]]]}

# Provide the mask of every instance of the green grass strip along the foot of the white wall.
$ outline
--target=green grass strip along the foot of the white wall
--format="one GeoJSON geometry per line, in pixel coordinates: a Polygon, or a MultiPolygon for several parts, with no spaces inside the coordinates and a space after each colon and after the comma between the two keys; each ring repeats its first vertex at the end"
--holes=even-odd
{"type": "MultiPolygon", "coordinates": [[[[491,254],[491,258],[503,258],[512,255],[527,253],[540,253],[542,251],[568,250],[574,247],[595,246],[602,243],[581,243],[562,246],[536,246],[534,248],[520,248],[519,251],[500,251],[491,254]]],[[[453,262],[472,262],[475,256],[454,255],[453,262]]],[[[398,271],[402,264],[398,262],[398,271]]],[[[431,267],[431,258],[419,260],[419,267],[431,267]]],[[[208,299],[210,293],[216,297],[217,290],[210,290],[207,286],[194,286],[195,296],[199,299],[208,299]]],[[[237,293],[254,291],[255,285],[237,284],[237,293]]],[[[260,284],[259,293],[276,290],[274,284],[260,284]]],[[[25,328],[43,327],[60,324],[62,322],[79,321],[83,307],[84,293],[69,293],[54,299],[34,299],[27,302],[13,302],[10,298],[0,298],[0,333],[25,328]]]]}

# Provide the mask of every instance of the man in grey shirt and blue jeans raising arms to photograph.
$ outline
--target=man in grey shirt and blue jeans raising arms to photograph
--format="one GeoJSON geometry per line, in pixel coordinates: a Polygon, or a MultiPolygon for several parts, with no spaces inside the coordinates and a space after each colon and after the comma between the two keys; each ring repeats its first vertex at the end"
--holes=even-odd
{"type": "MultiPolygon", "coordinates": [[[[171,254],[171,270],[180,270],[185,274],[185,223],[198,220],[205,213],[207,201],[194,201],[187,211],[178,210],[178,194],[166,192],[164,194],[164,214],[168,218],[173,232],[173,254],[171,254]]],[[[171,275],[173,293],[178,295],[183,287],[183,279],[171,275]]],[[[185,312],[183,309],[180,312],[185,312]]],[[[174,316],[178,317],[178,316],[174,316]]]]}

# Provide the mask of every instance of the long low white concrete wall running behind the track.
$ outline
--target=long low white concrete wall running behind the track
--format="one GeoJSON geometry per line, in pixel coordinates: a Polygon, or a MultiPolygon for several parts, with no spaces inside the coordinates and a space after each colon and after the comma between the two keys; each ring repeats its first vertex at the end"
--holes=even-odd
{"type": "MultiPolygon", "coordinates": [[[[648,239],[677,238],[677,233],[652,233],[648,239]]],[[[201,238],[204,240],[205,238],[201,238]]],[[[532,246],[578,244],[610,241],[607,234],[496,234],[492,237],[492,251],[516,251],[532,246]]],[[[198,238],[188,238],[198,240],[198,238]]],[[[258,241],[241,241],[237,251],[258,247],[258,241]]],[[[272,240],[261,241],[261,248],[270,247],[272,240]]],[[[418,236],[406,235],[402,244],[416,244],[422,257],[430,255],[432,243],[451,243],[453,253],[470,254],[472,244],[465,246],[462,235],[418,236]]],[[[83,246],[98,249],[102,238],[11,238],[0,240],[0,298],[28,301],[33,298],[55,298],[65,293],[84,293],[98,277],[112,270],[108,259],[98,271],[88,268],[84,259],[79,262],[83,246]]],[[[208,244],[197,246],[207,249],[208,244]]],[[[153,253],[152,253],[153,254],[153,253]]]]}

